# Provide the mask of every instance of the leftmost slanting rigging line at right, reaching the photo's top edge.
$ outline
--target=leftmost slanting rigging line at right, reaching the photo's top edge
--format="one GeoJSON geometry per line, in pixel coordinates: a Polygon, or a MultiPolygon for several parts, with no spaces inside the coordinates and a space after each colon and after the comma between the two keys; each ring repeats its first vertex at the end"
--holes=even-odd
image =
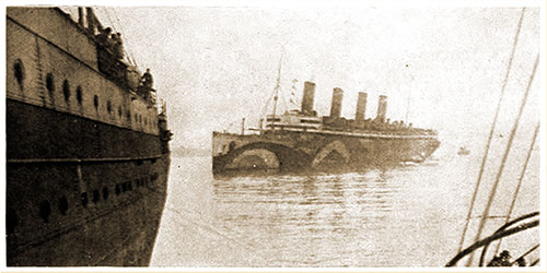
{"type": "Polygon", "coordinates": [[[525,11],[525,8],[522,9],[521,17],[519,20],[519,24],[516,27],[516,34],[515,34],[514,39],[513,39],[513,48],[511,50],[511,55],[510,55],[511,57],[509,58],[508,70],[505,72],[505,79],[503,80],[503,85],[501,86],[501,94],[500,94],[500,98],[498,100],[498,107],[496,108],[496,115],[493,116],[492,127],[490,128],[490,135],[488,135],[488,142],[487,142],[486,147],[485,147],[485,155],[482,156],[482,163],[480,164],[480,170],[478,174],[477,183],[475,185],[475,191],[473,192],[473,198],[472,198],[472,203],[469,205],[469,211],[467,212],[467,217],[465,218],[464,232],[462,233],[462,238],[459,239],[459,246],[457,248],[458,252],[462,251],[462,248],[464,246],[465,234],[467,233],[467,228],[469,227],[469,219],[472,217],[473,207],[474,207],[475,201],[477,199],[477,193],[478,193],[478,189],[480,186],[480,180],[482,179],[482,173],[485,169],[486,159],[488,158],[488,151],[490,150],[490,143],[492,142],[493,130],[496,129],[496,123],[498,122],[498,116],[500,114],[500,108],[501,108],[501,102],[503,100],[503,95],[505,93],[505,86],[508,85],[509,73],[510,73],[511,67],[513,64],[513,58],[514,58],[514,54],[515,54],[515,49],[516,49],[516,44],[519,43],[519,34],[521,33],[522,21],[524,17],[524,11],[525,11]]]}

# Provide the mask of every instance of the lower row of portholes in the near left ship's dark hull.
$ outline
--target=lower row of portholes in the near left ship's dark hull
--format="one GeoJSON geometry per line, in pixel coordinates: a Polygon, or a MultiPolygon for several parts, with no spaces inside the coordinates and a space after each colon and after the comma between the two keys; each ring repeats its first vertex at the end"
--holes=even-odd
{"type": "MultiPolygon", "coordinates": [[[[137,178],[135,180],[137,187],[144,187],[148,186],[150,182],[154,182],[158,180],[158,173],[154,173],[150,176],[137,178]]],[[[121,183],[117,183],[115,186],[115,194],[120,195],[121,193],[126,191],[131,191],[132,190],[132,181],[128,180],[121,183]]],[[[110,195],[110,191],[108,187],[103,187],[102,192],[100,192],[98,189],[93,190],[91,193],[91,201],[93,203],[98,203],[101,201],[101,195],[104,201],[108,200],[110,195]],[[102,193],[102,194],[101,194],[102,193]]],[[[83,207],[89,206],[89,195],[88,192],[82,192],[80,194],[80,200],[81,204],[83,207]]],[[[69,202],[66,197],[61,197],[58,202],[57,202],[58,210],[61,215],[67,215],[69,211],[69,202]]],[[[51,216],[51,205],[49,201],[44,200],[38,204],[38,216],[44,221],[44,223],[49,223],[49,217],[51,216]]],[[[7,210],[7,215],[5,215],[5,227],[7,227],[7,234],[12,234],[15,229],[15,227],[19,225],[19,219],[16,216],[16,213],[13,210],[7,210]]]]}

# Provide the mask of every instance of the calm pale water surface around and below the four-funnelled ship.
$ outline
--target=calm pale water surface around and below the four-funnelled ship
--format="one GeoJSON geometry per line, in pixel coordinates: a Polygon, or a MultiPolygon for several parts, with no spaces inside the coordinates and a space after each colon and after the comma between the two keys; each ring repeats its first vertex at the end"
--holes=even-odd
{"type": "MultiPolygon", "coordinates": [[[[513,215],[538,210],[535,164],[513,215]]],[[[349,174],[213,178],[210,157],[174,157],[151,265],[443,266],[456,253],[477,166],[480,156],[454,155],[349,174]]],[[[505,180],[492,215],[509,206],[515,182],[505,180]]]]}

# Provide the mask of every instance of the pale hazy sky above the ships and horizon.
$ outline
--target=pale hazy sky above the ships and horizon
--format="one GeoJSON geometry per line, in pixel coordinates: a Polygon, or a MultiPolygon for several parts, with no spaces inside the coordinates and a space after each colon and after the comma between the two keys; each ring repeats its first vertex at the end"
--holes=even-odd
{"type": "MultiPolygon", "coordinates": [[[[410,122],[437,129],[443,144],[481,146],[522,9],[109,7],[95,11],[103,24],[124,34],[126,50],[140,69],[151,69],[154,86],[167,102],[175,133],[172,145],[208,149],[213,130],[238,131],[243,117],[247,126],[257,126],[276,86],[280,59],[281,110],[299,108],[303,82],[313,81],[319,115],[328,115],[334,87],[345,91],[347,118],[354,116],[358,92],[369,93],[368,117],[375,116],[377,96],[384,94],[392,120],[404,119],[410,105],[410,122]],[[290,104],[291,93],[295,104],[290,104]]],[[[501,134],[509,135],[514,122],[539,52],[539,9],[528,8],[500,115],[501,134]]],[[[533,82],[517,135],[526,143],[539,120],[540,79],[533,82]]]]}

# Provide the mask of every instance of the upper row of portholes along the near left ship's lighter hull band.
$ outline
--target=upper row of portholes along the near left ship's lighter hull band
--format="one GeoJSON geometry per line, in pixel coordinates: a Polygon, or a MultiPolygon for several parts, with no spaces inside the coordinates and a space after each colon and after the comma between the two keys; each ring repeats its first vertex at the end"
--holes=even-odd
{"type": "MultiPolygon", "coordinates": [[[[24,90],[24,80],[25,80],[25,69],[23,66],[23,61],[21,59],[16,59],[14,64],[13,64],[13,74],[19,83],[19,86],[21,91],[24,90]]],[[[46,88],[49,93],[49,96],[54,96],[55,92],[55,81],[54,81],[54,75],[53,73],[47,73],[46,75],[46,88]]],[[[65,80],[62,82],[62,94],[65,96],[65,102],[70,105],[70,84],[68,80],[65,80]]],[[[82,105],[82,86],[78,85],[75,88],[75,98],[79,105],[82,105]]],[[[94,95],[93,96],[93,105],[95,106],[95,110],[98,110],[98,96],[94,95]]],[[[110,100],[106,102],[106,110],[108,114],[114,115],[114,108],[110,100]]],[[[121,106],[118,106],[118,116],[121,118],[123,116],[123,110],[121,106]]],[[[131,111],[129,109],[126,110],[126,119],[131,118],[131,111]]],[[[150,120],[148,117],[142,117],[140,114],[135,114],[135,122],[139,123],[144,123],[144,126],[152,126],[152,120],[150,120]]]]}

